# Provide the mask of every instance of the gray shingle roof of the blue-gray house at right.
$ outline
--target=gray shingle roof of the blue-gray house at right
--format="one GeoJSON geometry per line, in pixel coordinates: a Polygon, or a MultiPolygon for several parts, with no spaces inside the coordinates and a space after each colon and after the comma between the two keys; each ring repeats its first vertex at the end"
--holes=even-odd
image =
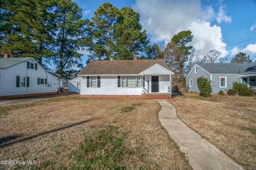
{"type": "Polygon", "coordinates": [[[256,63],[198,63],[211,74],[243,74],[256,72],[256,63]]]}

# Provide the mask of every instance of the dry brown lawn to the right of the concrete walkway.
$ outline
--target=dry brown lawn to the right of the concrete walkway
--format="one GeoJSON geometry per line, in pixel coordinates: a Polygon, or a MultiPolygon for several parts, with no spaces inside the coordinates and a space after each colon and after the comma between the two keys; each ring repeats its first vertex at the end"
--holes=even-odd
{"type": "Polygon", "coordinates": [[[256,98],[184,94],[170,99],[178,117],[246,169],[256,169],[256,98]]]}

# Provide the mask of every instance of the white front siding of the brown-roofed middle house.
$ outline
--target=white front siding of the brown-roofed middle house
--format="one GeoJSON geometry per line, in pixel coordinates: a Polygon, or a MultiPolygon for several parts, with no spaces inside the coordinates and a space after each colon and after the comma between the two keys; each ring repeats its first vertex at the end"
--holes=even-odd
{"type": "MultiPolygon", "coordinates": [[[[167,87],[170,86],[170,74],[159,76],[159,92],[167,93],[167,87]]],[[[151,75],[145,75],[145,89],[149,81],[149,92],[151,92],[151,75]]],[[[142,87],[122,88],[117,87],[117,75],[100,76],[100,88],[87,88],[87,78],[81,77],[81,95],[141,95],[142,87]]]]}

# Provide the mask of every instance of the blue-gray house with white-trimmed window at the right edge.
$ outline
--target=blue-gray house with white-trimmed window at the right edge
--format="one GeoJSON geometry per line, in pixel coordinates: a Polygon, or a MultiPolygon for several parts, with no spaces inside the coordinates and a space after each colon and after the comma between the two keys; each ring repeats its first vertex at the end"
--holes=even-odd
{"type": "Polygon", "coordinates": [[[220,90],[227,92],[233,82],[241,82],[244,86],[253,87],[256,92],[256,63],[201,63],[195,64],[186,78],[187,89],[199,92],[197,79],[205,77],[211,80],[212,93],[220,90]]]}

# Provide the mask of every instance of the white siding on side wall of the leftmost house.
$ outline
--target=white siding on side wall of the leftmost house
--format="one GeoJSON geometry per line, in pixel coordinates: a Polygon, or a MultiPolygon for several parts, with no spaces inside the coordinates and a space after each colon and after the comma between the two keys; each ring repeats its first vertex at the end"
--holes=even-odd
{"type": "MultiPolygon", "coordinates": [[[[31,60],[29,62],[34,62],[31,60]]],[[[47,73],[38,64],[37,70],[27,69],[27,62],[22,62],[7,69],[0,69],[0,96],[39,94],[57,92],[57,77],[47,73]],[[29,77],[29,87],[16,87],[16,77],[29,77]],[[47,79],[46,84],[37,84],[37,78],[47,79]]]]}

